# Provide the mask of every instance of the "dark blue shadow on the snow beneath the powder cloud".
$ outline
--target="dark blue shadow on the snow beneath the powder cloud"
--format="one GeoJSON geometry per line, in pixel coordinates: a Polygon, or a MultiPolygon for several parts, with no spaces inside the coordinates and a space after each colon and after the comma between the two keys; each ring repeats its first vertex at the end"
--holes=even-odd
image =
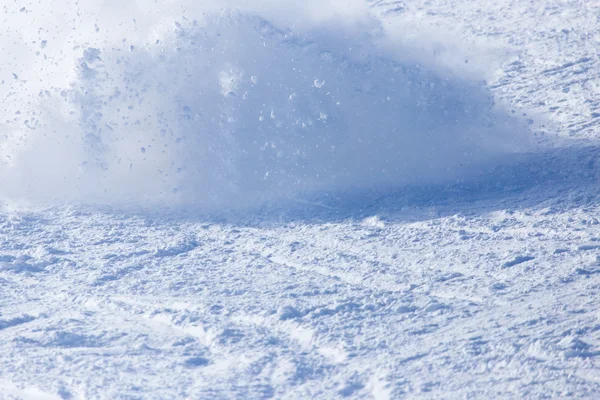
{"type": "MultiPolygon", "coordinates": [[[[444,185],[304,193],[260,207],[206,213],[194,209],[130,210],[148,224],[199,222],[237,227],[323,224],[378,216],[391,223],[449,215],[478,216],[498,210],[548,209],[550,213],[600,202],[600,146],[578,141],[515,154],[469,179],[444,185]]],[[[123,213],[115,207],[95,211],[123,213]]],[[[131,215],[128,212],[129,215],[131,215]]]]}

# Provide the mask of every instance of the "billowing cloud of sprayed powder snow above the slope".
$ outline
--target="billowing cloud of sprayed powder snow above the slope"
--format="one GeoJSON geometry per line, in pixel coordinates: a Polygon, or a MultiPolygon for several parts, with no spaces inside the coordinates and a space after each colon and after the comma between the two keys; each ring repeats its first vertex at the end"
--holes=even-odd
{"type": "Polygon", "coordinates": [[[454,180],[524,145],[484,83],[384,51],[372,19],[211,9],[79,21],[52,48],[51,23],[14,30],[30,50],[5,43],[0,194],[246,207],[454,180]]]}

